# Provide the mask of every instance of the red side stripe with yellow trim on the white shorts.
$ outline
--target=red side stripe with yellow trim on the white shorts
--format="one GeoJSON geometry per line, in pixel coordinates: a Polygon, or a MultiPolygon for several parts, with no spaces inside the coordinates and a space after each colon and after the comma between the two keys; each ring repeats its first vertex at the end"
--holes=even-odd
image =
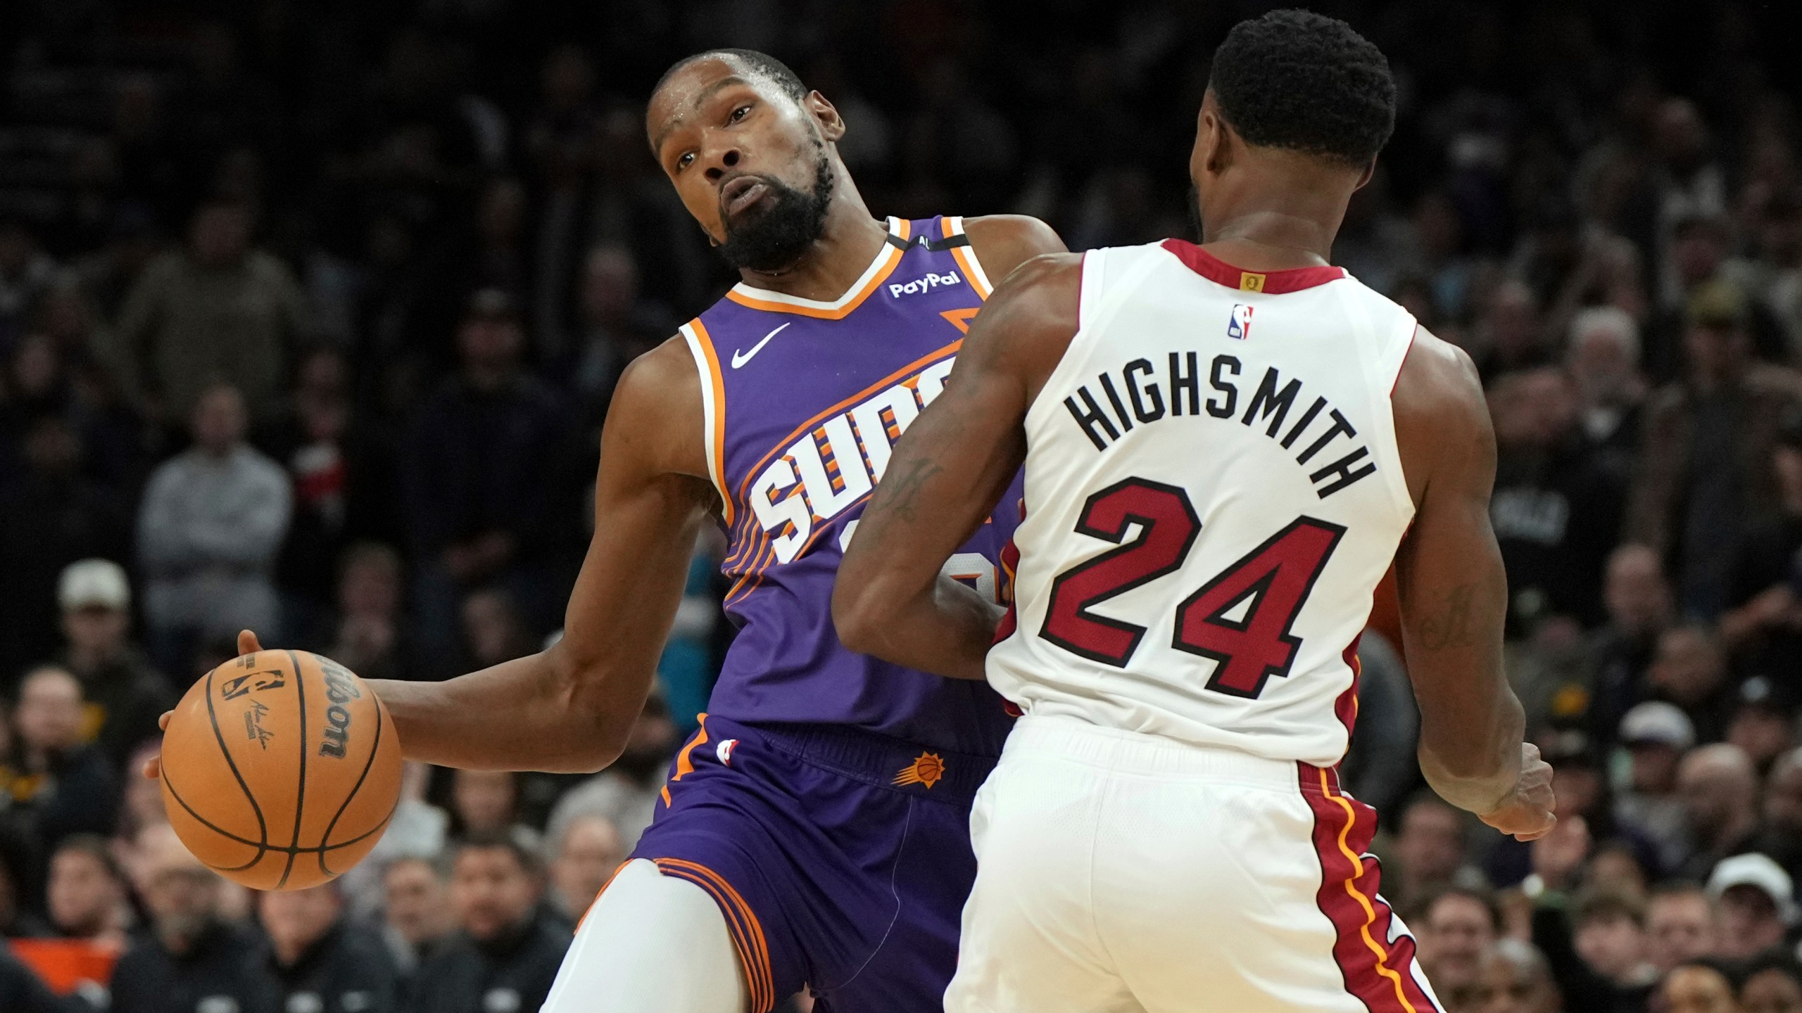
{"type": "Polygon", "coordinates": [[[1389,941],[1395,912],[1377,896],[1382,871],[1364,854],[1377,833],[1377,811],[1339,791],[1333,771],[1301,770],[1301,797],[1314,811],[1314,851],[1321,860],[1321,914],[1333,923],[1333,961],[1346,991],[1370,1013],[1438,1013],[1415,981],[1415,941],[1389,941]]]}

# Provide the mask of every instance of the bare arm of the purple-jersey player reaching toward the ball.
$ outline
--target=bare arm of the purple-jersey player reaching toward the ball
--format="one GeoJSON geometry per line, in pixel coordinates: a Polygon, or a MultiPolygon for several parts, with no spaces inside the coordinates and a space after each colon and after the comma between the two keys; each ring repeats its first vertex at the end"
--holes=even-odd
{"type": "Polygon", "coordinates": [[[373,681],[409,759],[575,773],[618,757],[717,503],[701,447],[688,351],[674,342],[634,360],[602,431],[595,535],[562,640],[443,683],[373,681]]]}

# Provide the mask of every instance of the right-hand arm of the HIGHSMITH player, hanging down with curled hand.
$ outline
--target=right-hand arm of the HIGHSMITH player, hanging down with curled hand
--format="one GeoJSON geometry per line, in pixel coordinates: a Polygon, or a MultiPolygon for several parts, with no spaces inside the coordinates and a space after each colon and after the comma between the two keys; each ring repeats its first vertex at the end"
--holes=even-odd
{"type": "Polygon", "coordinates": [[[1422,330],[1395,388],[1415,523],[1395,559],[1420,770],[1447,802],[1532,840],[1552,829],[1552,768],[1523,743],[1501,665],[1508,580],[1488,523],[1496,433],[1476,368],[1422,330]]]}

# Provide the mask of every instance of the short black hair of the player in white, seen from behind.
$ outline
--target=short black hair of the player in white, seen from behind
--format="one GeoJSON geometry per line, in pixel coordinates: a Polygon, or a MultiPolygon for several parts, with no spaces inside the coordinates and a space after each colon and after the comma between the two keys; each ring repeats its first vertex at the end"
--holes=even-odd
{"type": "Polygon", "coordinates": [[[1233,25],[1207,85],[1222,117],[1260,148],[1368,166],[1395,132],[1388,58],[1324,14],[1270,11],[1233,25]]]}

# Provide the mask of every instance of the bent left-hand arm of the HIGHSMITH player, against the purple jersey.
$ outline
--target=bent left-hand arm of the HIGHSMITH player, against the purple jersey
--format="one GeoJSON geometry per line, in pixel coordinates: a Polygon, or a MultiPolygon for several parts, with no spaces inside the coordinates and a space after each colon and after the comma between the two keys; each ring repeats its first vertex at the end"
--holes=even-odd
{"type": "Polygon", "coordinates": [[[833,589],[852,651],[982,678],[1000,611],[944,561],[982,525],[1025,458],[1022,420],[1076,332],[1081,258],[1027,261],[977,314],[944,393],[896,443],[833,589]]]}

